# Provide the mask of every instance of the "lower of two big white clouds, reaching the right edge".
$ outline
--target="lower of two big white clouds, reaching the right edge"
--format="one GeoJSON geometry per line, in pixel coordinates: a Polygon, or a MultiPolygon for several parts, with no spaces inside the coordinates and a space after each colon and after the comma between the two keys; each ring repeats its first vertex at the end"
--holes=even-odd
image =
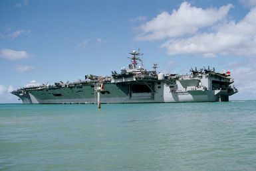
{"type": "Polygon", "coordinates": [[[230,21],[219,25],[213,32],[197,33],[188,38],[171,38],[161,47],[166,48],[169,55],[201,54],[215,56],[217,54],[235,54],[236,56],[256,55],[256,8],[239,23],[230,21]]]}

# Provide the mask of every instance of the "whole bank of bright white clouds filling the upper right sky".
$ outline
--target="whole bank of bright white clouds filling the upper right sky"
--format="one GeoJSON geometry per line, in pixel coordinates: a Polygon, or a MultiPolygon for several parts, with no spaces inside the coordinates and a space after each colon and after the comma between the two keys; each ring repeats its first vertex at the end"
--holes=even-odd
{"type": "Polygon", "coordinates": [[[135,39],[164,40],[160,47],[166,48],[170,56],[256,56],[256,7],[238,22],[226,19],[231,7],[233,5],[201,9],[185,2],[172,14],[163,12],[140,25],[142,32],[135,39]]]}

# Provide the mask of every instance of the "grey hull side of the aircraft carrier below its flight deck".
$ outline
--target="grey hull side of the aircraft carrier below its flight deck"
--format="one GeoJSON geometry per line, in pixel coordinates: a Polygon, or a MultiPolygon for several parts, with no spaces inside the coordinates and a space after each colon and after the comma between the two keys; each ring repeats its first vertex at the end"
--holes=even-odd
{"type": "MultiPolygon", "coordinates": [[[[195,101],[228,101],[228,96],[235,93],[226,90],[193,89],[188,91],[170,91],[170,86],[159,82],[151,84],[154,91],[132,92],[129,87],[122,88],[116,84],[105,84],[104,91],[100,92],[101,103],[171,103],[195,101]]],[[[94,85],[81,85],[77,87],[59,87],[58,89],[39,89],[24,91],[17,94],[23,103],[64,104],[64,103],[96,103],[94,85]]]]}

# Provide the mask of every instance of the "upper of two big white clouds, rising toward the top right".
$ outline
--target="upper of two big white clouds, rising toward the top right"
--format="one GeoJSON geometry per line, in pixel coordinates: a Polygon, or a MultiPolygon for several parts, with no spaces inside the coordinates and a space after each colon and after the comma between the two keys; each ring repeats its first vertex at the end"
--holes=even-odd
{"type": "Polygon", "coordinates": [[[135,40],[160,40],[194,34],[200,28],[210,27],[224,21],[233,5],[225,5],[219,9],[201,9],[184,2],[171,14],[164,11],[151,21],[138,27],[140,33],[135,40]]]}

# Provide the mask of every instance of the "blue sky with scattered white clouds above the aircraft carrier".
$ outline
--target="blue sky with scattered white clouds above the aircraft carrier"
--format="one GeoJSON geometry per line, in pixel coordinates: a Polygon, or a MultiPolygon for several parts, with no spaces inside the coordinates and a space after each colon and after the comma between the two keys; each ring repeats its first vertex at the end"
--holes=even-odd
{"type": "Polygon", "coordinates": [[[256,99],[256,0],[1,0],[0,103],[21,103],[9,92],[26,85],[120,72],[138,48],[148,70],[230,71],[229,99],[256,99]]]}

